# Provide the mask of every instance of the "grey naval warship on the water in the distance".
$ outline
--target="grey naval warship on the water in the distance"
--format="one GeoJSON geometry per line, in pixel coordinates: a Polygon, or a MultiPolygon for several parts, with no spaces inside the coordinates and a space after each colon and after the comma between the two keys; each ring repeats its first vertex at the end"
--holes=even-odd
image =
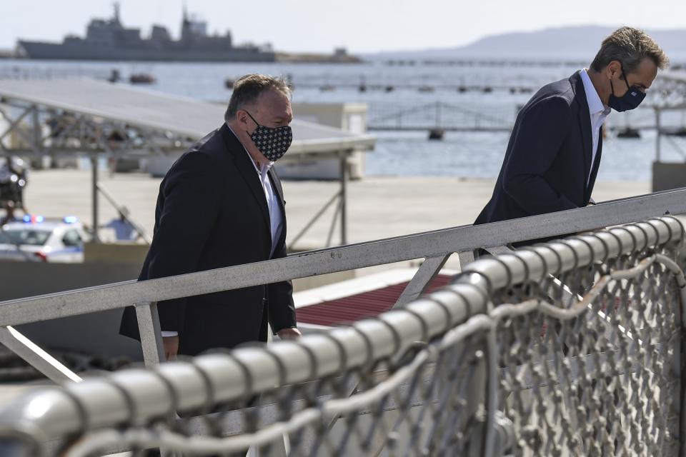
{"type": "Polygon", "coordinates": [[[111,19],[93,19],[86,37],[66,36],[62,43],[19,40],[17,54],[28,59],[99,61],[273,62],[271,46],[234,46],[231,32],[207,34],[207,23],[192,19],[184,8],[181,39],[173,40],[163,26],[153,26],[149,39],[140,29],[128,29],[114,4],[111,19]]]}

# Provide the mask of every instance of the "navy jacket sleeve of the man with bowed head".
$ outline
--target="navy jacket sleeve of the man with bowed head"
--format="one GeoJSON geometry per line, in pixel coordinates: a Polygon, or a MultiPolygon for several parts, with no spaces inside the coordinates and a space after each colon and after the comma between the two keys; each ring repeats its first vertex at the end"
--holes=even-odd
{"type": "Polygon", "coordinates": [[[560,96],[542,99],[522,116],[504,164],[503,191],[529,214],[577,208],[545,179],[570,129],[567,100],[560,96]]]}

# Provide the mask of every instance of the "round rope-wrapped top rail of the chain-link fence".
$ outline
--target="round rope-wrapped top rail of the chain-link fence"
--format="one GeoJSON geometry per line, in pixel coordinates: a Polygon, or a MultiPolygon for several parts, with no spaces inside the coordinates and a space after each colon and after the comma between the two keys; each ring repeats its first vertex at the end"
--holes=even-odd
{"type": "MultiPolygon", "coordinates": [[[[539,253],[521,251],[472,263],[452,286],[445,289],[457,293],[439,291],[427,300],[414,301],[405,309],[360,321],[354,329],[341,327],[330,331],[327,336],[309,335],[297,342],[284,341],[267,348],[239,348],[231,356],[200,356],[192,363],[166,363],[155,371],[130,369],[109,378],[92,378],[81,385],[71,384],[65,390],[44,389],[29,393],[0,414],[0,435],[13,431],[47,441],[74,436],[88,431],[88,428],[121,426],[127,422],[149,423],[164,417],[175,407],[197,411],[284,383],[309,381],[315,376],[312,373],[316,373],[315,377],[330,376],[342,369],[367,363],[372,357],[403,353],[399,348],[407,348],[417,341],[431,341],[434,336],[451,328],[453,331],[457,327],[461,329],[461,333],[453,332],[454,338],[458,333],[465,335],[477,329],[492,330],[485,313],[488,295],[493,290],[528,279],[538,281],[550,271],[562,273],[588,266],[598,258],[616,258],[647,246],[683,241],[684,228],[674,218],[662,218],[581,238],[565,244],[552,243],[539,253]],[[470,320],[479,315],[482,316],[481,321],[470,320]],[[369,341],[375,341],[373,348],[368,346],[369,341]],[[361,353],[361,348],[367,348],[367,353],[361,353]],[[269,363],[272,365],[264,368],[269,363]],[[317,370],[314,371],[312,366],[317,370]],[[208,388],[207,382],[212,386],[213,395],[198,394],[208,388]],[[36,404],[42,407],[40,415],[36,415],[36,404]]],[[[678,266],[674,268],[676,270],[672,271],[677,273],[680,300],[685,301],[683,273],[678,266]]],[[[572,309],[555,310],[557,313],[576,312],[572,309]]],[[[486,404],[488,421],[492,424],[497,396],[494,384],[498,371],[494,353],[497,348],[493,344],[488,346],[488,351],[486,404]]],[[[489,443],[493,439],[489,436],[489,443]]]]}

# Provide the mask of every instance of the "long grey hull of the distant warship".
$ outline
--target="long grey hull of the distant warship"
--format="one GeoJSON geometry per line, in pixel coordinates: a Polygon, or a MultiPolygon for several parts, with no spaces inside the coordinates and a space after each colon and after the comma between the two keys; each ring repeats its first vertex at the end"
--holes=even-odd
{"type": "Polygon", "coordinates": [[[178,61],[178,62],[273,62],[273,52],[257,49],[135,49],[19,41],[27,59],[95,61],[178,61]]]}

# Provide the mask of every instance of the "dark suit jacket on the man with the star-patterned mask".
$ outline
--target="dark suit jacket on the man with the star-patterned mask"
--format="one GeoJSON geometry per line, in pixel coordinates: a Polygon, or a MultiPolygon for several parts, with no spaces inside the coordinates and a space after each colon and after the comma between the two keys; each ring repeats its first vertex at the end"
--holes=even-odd
{"type": "MultiPolygon", "coordinates": [[[[283,190],[269,171],[283,214],[272,258],[286,256],[283,190]]],[[[269,211],[252,159],[224,124],[191,146],[159,187],[155,228],[139,281],[266,261],[272,249],[269,211]]],[[[158,303],[163,331],[179,332],[179,353],[267,341],[294,327],[290,281],[158,303]]],[[[126,308],[121,333],[139,338],[136,313],[126,308]]]]}

